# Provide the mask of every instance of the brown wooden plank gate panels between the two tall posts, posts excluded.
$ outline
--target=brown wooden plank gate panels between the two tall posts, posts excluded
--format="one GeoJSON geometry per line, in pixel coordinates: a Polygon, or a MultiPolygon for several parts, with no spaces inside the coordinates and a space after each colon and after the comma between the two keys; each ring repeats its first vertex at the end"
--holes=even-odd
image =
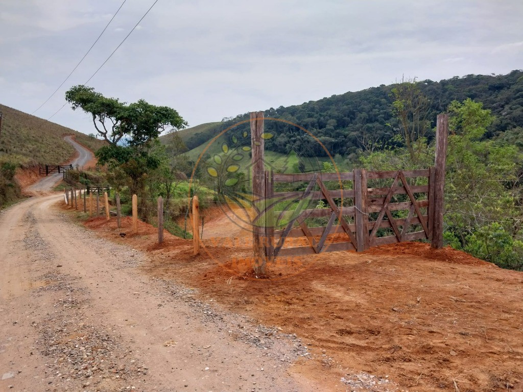
{"type": "Polygon", "coordinates": [[[434,168],[307,174],[267,171],[265,191],[264,235],[269,259],[338,250],[363,251],[371,246],[431,238],[434,168]],[[369,180],[387,179],[392,179],[390,187],[367,187],[369,180]],[[425,184],[411,185],[407,179],[425,184]],[[274,192],[278,182],[306,182],[308,186],[303,191],[274,192]],[[329,190],[325,182],[334,183],[337,189],[329,190]],[[316,207],[320,202],[324,208],[316,207]],[[320,217],[328,218],[325,226],[309,227],[306,223],[320,217]],[[413,231],[417,226],[421,229],[413,231]],[[383,235],[386,233],[380,229],[391,229],[393,235],[383,235]],[[285,247],[289,238],[300,237],[305,245],[285,247]]]}

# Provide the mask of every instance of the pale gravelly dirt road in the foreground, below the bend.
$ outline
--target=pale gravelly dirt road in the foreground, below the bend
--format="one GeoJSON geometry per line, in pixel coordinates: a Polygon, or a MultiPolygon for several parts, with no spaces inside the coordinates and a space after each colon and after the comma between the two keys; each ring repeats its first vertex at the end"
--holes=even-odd
{"type": "Polygon", "coordinates": [[[35,197],[0,215],[0,390],[313,391],[293,336],[140,273],[144,253],[35,197]]]}

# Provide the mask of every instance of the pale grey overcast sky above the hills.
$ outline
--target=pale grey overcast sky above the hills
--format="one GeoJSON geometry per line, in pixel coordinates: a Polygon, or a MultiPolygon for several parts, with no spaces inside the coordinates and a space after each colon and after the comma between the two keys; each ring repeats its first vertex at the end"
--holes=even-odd
{"type": "MultiPolygon", "coordinates": [[[[72,71],[123,0],[1,0],[0,103],[31,113],[72,71]]],[[[154,0],[127,0],[71,78],[83,84],[154,0]]],[[[159,0],[87,84],[170,106],[194,126],[397,79],[523,68],[522,0],[159,0]]],[[[7,120],[7,119],[6,119],[7,120]]],[[[65,106],[51,121],[93,132],[65,106]]]]}

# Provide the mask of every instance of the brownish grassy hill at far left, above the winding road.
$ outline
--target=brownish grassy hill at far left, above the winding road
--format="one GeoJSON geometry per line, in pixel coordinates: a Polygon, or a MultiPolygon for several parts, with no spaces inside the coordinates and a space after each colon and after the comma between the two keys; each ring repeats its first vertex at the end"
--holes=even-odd
{"type": "Polygon", "coordinates": [[[65,126],[0,105],[3,113],[0,158],[30,165],[57,165],[69,160],[75,149],[63,140],[75,135],[78,143],[96,151],[104,142],[65,126]]]}

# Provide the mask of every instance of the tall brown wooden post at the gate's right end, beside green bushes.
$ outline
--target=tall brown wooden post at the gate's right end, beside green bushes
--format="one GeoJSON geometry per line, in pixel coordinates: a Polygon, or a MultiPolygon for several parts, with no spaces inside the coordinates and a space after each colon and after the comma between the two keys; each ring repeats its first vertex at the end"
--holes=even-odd
{"type": "Polygon", "coordinates": [[[434,223],[430,246],[436,249],[443,247],[443,212],[445,199],[445,171],[447,160],[447,143],[449,134],[448,114],[438,114],[436,124],[436,158],[434,162],[434,223]]]}

